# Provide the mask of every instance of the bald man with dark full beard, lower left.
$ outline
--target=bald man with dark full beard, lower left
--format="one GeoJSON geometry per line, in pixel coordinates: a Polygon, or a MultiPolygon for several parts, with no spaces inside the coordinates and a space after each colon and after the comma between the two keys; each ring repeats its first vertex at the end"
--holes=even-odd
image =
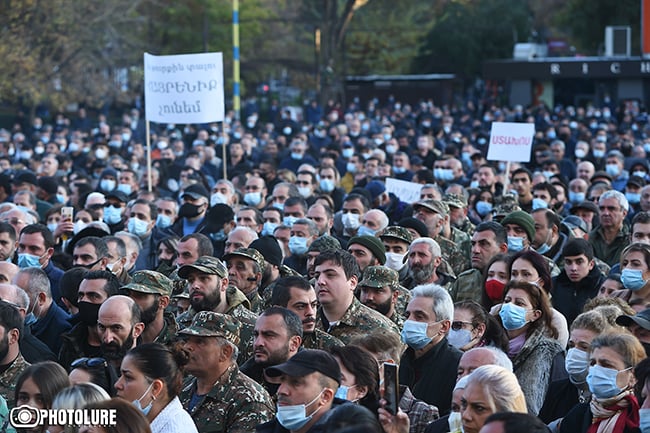
{"type": "Polygon", "coordinates": [[[111,296],[99,307],[97,332],[102,357],[114,368],[120,368],[122,358],[135,347],[143,330],[140,307],[128,296],[111,296]]]}

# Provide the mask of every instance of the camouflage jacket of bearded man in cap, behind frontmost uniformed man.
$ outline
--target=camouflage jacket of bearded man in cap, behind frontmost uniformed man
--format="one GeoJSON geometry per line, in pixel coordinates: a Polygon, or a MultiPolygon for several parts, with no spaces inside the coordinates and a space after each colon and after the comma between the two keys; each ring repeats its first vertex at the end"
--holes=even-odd
{"type": "MultiPolygon", "coordinates": [[[[228,309],[225,311],[225,314],[230,314],[242,324],[239,330],[240,342],[237,362],[243,364],[253,355],[253,332],[255,330],[257,314],[249,309],[250,302],[246,298],[246,295],[234,286],[228,286],[226,289],[226,303],[228,304],[228,309]]],[[[190,326],[195,314],[196,311],[190,307],[186,312],[178,316],[176,321],[178,322],[179,329],[190,326]]]]}

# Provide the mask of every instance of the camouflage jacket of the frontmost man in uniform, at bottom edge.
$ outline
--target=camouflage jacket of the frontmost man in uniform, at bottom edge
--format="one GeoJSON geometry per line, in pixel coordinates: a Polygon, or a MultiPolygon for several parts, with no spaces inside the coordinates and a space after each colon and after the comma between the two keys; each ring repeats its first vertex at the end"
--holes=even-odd
{"type": "Polygon", "coordinates": [[[200,433],[250,433],[275,416],[268,392],[232,364],[192,410],[196,378],[186,381],[180,400],[200,433]]]}

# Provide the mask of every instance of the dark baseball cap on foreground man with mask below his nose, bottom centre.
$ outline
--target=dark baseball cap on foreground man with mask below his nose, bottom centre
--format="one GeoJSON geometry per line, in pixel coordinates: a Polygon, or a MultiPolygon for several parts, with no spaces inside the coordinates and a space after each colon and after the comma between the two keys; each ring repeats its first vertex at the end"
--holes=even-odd
{"type": "Polygon", "coordinates": [[[303,377],[319,372],[341,384],[341,368],[336,358],[324,350],[304,349],[284,362],[264,370],[267,380],[279,383],[283,374],[290,377],[303,377]]]}

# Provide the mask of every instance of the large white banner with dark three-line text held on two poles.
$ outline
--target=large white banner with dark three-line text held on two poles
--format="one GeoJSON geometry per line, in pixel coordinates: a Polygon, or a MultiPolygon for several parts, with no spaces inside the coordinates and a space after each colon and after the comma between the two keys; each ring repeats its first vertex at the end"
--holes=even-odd
{"type": "Polygon", "coordinates": [[[221,53],[152,56],[144,53],[147,120],[209,123],[224,118],[221,53]]]}

